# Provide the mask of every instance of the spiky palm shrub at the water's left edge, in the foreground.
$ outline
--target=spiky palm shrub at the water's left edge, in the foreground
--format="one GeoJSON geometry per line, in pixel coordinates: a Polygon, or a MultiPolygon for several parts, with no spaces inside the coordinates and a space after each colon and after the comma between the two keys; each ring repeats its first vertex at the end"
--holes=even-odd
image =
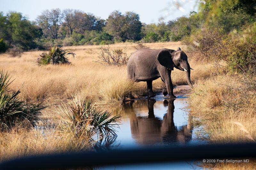
{"type": "Polygon", "coordinates": [[[120,122],[121,115],[112,117],[107,111],[97,110],[92,99],[86,97],[85,100],[73,98],[72,104],[60,107],[63,113],[62,122],[59,128],[72,134],[73,137],[114,137],[116,136],[116,126],[120,122]]]}

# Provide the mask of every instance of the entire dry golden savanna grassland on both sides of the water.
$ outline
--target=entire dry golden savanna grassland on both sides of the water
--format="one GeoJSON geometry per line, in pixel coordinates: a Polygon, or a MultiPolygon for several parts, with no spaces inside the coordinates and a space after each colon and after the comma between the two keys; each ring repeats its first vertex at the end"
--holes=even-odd
{"type": "MultiPolygon", "coordinates": [[[[180,42],[144,45],[154,49],[186,49],[180,42]]],[[[128,56],[136,51],[136,46],[136,43],[109,45],[111,50],[125,50],[128,56]]],[[[16,91],[20,89],[19,98],[26,102],[42,102],[47,106],[42,115],[45,121],[40,122],[37,128],[15,127],[0,133],[1,161],[39,153],[90,150],[90,141],[56,130],[60,127],[67,104],[74,99],[90,97],[98,109],[111,110],[111,107],[122,107],[124,100],[147,94],[146,82],[134,83],[127,80],[125,65],[110,66],[97,62],[100,47],[64,47],[76,54],[74,58],[69,56],[69,65],[37,65],[37,58],[43,51],[24,52],[21,57],[12,57],[8,53],[0,55],[0,69],[10,74],[13,80],[10,88],[16,91]]],[[[248,81],[252,80],[236,74],[219,74],[213,63],[196,61],[191,55],[188,55],[188,62],[194,69],[191,70],[194,89],[189,90],[188,99],[190,114],[195,125],[204,124],[208,133],[205,140],[212,143],[255,142],[256,96],[255,89],[248,87],[248,81]]],[[[187,85],[185,73],[174,69],[172,83],[174,86],[187,85]]],[[[163,88],[164,83],[160,78],[153,81],[154,91],[161,92],[163,88]]],[[[181,91],[182,88],[175,88],[174,95],[181,91]]],[[[205,166],[216,169],[253,169],[254,163],[205,166]]]]}

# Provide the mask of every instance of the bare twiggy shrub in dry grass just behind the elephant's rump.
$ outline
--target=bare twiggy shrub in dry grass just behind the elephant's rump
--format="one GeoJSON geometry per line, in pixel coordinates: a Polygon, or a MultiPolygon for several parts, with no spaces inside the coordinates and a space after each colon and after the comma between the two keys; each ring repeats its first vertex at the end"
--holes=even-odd
{"type": "Polygon", "coordinates": [[[125,65],[127,64],[128,57],[126,53],[126,48],[115,49],[110,51],[109,46],[102,46],[99,48],[100,53],[98,53],[98,60],[96,62],[107,65],[125,65]]]}

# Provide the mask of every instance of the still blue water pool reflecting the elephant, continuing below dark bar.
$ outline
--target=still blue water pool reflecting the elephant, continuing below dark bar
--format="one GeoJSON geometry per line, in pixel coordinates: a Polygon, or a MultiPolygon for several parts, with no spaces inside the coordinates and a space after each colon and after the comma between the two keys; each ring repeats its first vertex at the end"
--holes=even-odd
{"type": "MultiPolygon", "coordinates": [[[[126,103],[123,108],[114,109],[121,114],[117,137],[102,142],[108,149],[127,149],[140,147],[177,146],[204,144],[197,134],[202,127],[193,127],[185,96],[175,100],[165,99],[158,94],[153,99],[137,99],[126,103]]],[[[200,169],[193,162],[140,164],[129,166],[108,166],[101,169],[200,169]]]]}

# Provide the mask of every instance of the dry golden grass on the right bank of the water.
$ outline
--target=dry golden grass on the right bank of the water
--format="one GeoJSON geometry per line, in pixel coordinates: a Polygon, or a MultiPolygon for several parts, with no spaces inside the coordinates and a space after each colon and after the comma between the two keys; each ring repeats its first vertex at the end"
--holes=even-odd
{"type": "MultiPolygon", "coordinates": [[[[189,107],[205,125],[212,143],[256,141],[256,94],[239,81],[240,76],[218,76],[199,80],[189,107]]],[[[215,169],[254,169],[256,161],[215,164],[215,169]]]]}

